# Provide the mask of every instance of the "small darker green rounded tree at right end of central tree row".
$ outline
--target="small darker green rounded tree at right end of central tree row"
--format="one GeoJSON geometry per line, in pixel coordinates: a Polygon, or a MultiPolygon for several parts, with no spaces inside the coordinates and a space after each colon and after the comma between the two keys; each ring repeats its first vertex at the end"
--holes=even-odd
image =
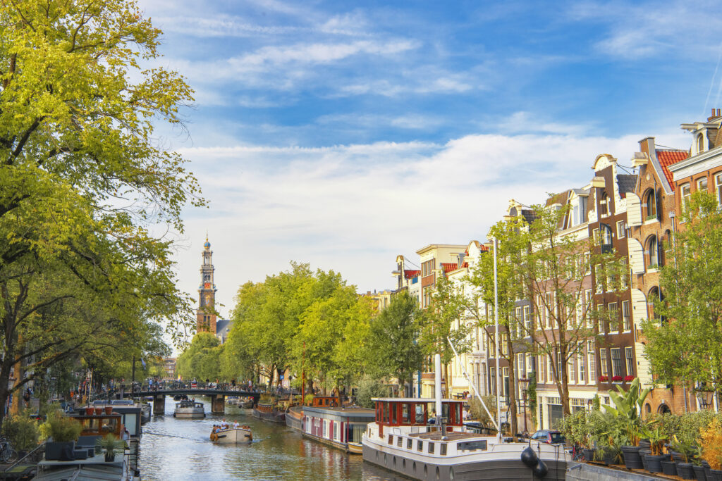
{"type": "Polygon", "coordinates": [[[370,323],[367,356],[377,376],[396,377],[399,387],[410,386],[424,353],[419,345],[423,312],[416,299],[401,291],[370,323]]]}

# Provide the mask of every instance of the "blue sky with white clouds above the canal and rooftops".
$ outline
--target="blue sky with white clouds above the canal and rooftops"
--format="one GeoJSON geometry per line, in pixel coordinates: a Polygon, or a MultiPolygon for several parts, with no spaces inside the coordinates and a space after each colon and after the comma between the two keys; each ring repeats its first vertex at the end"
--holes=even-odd
{"type": "MultiPolygon", "coordinates": [[[[510,199],[582,187],[599,154],[688,149],[722,107],[718,1],[140,0],[186,77],[178,286],[206,232],[220,312],[290,268],[393,288],[396,255],[484,242],[510,199]]],[[[197,297],[197,296],[196,296],[197,297]]]]}

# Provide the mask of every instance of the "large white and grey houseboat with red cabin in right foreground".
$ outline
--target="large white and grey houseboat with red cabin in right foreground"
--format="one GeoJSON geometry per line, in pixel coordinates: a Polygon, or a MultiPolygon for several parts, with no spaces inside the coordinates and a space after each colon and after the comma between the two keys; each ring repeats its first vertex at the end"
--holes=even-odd
{"type": "Polygon", "coordinates": [[[440,417],[430,415],[436,406],[430,398],[374,401],[375,421],[362,440],[364,461],[414,480],[531,480],[544,471],[545,480],[565,479],[570,456],[563,445],[506,443],[469,432],[463,400],[440,400],[440,417]],[[536,459],[525,464],[522,452],[529,447],[536,459]]]}

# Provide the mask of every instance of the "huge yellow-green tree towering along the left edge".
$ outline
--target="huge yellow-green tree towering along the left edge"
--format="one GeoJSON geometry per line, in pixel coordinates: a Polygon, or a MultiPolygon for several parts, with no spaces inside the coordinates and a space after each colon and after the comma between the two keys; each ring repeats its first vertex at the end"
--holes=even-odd
{"type": "Polygon", "coordinates": [[[147,229],[182,231],[183,206],[204,200],[154,136],[157,121],[182,127],[191,89],[139,66],[159,56],[160,30],[136,4],[4,2],[0,25],[4,405],[36,372],[113,343],[141,308],[183,333],[170,242],[147,229]]]}

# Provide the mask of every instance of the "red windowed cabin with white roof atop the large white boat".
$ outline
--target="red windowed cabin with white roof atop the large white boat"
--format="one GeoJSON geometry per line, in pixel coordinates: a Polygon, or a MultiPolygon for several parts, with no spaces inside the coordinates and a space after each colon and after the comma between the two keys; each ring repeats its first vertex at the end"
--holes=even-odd
{"type": "MultiPolygon", "coordinates": [[[[421,426],[427,425],[436,417],[436,402],[426,397],[378,397],[376,403],[376,424],[383,436],[383,426],[421,426]]],[[[461,426],[464,400],[441,400],[441,416],[446,418],[448,431],[461,426]]]]}

